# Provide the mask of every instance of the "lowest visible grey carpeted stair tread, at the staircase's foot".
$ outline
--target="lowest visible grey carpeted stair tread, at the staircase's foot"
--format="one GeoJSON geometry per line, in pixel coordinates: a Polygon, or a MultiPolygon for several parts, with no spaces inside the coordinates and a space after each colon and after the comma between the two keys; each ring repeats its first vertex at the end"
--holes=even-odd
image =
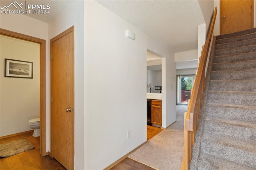
{"type": "Polygon", "coordinates": [[[255,168],[250,166],[238,164],[206,153],[201,153],[198,160],[202,163],[202,166],[204,166],[202,168],[208,170],[255,170],[255,168]],[[207,168],[205,166],[207,166],[207,168]]]}

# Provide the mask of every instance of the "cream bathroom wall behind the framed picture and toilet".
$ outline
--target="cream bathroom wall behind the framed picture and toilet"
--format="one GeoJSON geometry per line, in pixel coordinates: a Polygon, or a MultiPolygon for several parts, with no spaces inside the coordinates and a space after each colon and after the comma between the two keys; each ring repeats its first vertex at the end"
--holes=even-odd
{"type": "Polygon", "coordinates": [[[0,36],[0,135],[32,130],[28,120],[40,117],[40,45],[0,36]],[[5,58],[33,62],[33,79],[4,77],[5,58]]]}

